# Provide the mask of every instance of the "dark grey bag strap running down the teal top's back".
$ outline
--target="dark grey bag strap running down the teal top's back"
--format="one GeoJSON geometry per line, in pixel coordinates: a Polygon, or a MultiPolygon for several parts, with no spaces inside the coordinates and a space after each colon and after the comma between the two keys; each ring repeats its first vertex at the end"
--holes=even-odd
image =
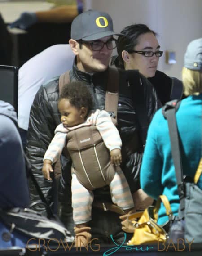
{"type": "Polygon", "coordinates": [[[180,199],[184,198],[183,169],[180,153],[180,141],[176,123],[176,111],[180,106],[179,100],[169,101],[163,106],[162,114],[168,121],[169,135],[171,141],[172,159],[176,171],[178,193],[180,199]]]}

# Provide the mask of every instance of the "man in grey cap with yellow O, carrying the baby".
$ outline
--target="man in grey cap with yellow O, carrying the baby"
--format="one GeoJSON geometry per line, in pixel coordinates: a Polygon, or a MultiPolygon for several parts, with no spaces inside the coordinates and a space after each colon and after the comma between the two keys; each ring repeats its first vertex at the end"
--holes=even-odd
{"type": "MultiPolygon", "coordinates": [[[[70,70],[70,81],[83,81],[88,85],[94,98],[95,109],[104,109],[105,107],[105,90],[109,78],[108,65],[112,50],[116,47],[113,35],[117,34],[113,30],[112,19],[107,13],[90,10],[80,14],[72,22],[69,44],[76,58],[70,70]]],[[[32,171],[50,202],[53,200],[51,196],[52,182],[43,179],[42,166],[44,153],[54,136],[54,129],[60,123],[57,110],[58,80],[59,77],[53,79],[42,86],[36,94],[30,113],[27,140],[27,154],[31,161],[32,171]]],[[[145,107],[145,119],[150,121],[158,108],[156,93],[144,76],[134,71],[134,81],[130,85],[127,72],[119,71],[118,129],[123,141],[123,164],[121,167],[132,193],[140,188],[139,170],[143,152],[139,136],[143,131],[139,129],[132,94],[135,89],[134,85],[139,85],[143,91],[140,97],[142,97],[145,107]]],[[[68,226],[71,215],[70,167],[70,159],[62,155],[62,175],[59,189],[60,217],[67,222],[69,229],[71,228],[68,226]]],[[[31,200],[34,201],[37,195],[32,186],[30,189],[31,200]]],[[[95,190],[94,196],[97,206],[105,206],[102,203],[110,201],[109,188],[95,190]]],[[[89,223],[92,236],[99,238],[101,243],[110,243],[112,242],[110,234],[113,234],[115,241],[123,242],[119,214],[104,210],[106,209],[103,207],[102,209],[92,207],[92,220],[89,223]]],[[[85,236],[89,234],[89,229],[76,230],[76,236],[79,234],[85,236]]]]}

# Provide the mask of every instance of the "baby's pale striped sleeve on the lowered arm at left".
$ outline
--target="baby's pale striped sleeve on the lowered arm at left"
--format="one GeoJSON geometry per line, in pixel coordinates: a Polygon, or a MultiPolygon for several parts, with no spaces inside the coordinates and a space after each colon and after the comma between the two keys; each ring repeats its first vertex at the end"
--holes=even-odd
{"type": "Polygon", "coordinates": [[[56,162],[59,159],[62,149],[66,145],[66,129],[62,128],[61,125],[57,126],[55,130],[55,136],[53,137],[51,143],[48,146],[48,149],[44,155],[44,160],[51,160],[52,163],[56,162]],[[59,127],[60,126],[60,127],[59,127]],[[58,128],[59,127],[59,128],[58,128]]]}

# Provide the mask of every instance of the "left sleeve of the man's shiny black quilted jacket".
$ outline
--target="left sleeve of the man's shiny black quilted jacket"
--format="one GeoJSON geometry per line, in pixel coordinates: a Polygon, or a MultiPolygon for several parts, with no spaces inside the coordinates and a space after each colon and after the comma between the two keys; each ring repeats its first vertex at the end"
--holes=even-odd
{"type": "MultiPolygon", "coordinates": [[[[56,101],[57,104],[57,101],[56,101]]],[[[42,174],[43,157],[48,145],[54,136],[54,129],[57,126],[52,105],[48,103],[48,95],[44,86],[35,95],[34,102],[31,107],[30,121],[27,135],[26,153],[31,163],[32,172],[45,198],[48,202],[52,202],[52,182],[45,180],[42,174]]],[[[30,198],[31,202],[39,200],[38,193],[30,181],[30,198]]],[[[42,207],[43,209],[43,207],[42,207]]],[[[36,207],[35,210],[41,210],[36,207]]]]}

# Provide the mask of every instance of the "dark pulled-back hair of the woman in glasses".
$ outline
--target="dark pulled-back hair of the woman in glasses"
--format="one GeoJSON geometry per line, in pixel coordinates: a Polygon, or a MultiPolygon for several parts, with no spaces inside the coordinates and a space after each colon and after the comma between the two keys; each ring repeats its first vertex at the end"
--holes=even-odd
{"type": "Polygon", "coordinates": [[[117,45],[117,58],[113,58],[113,63],[116,67],[124,69],[124,61],[122,58],[122,51],[128,51],[134,49],[134,47],[138,44],[139,36],[146,34],[146,33],[153,33],[154,36],[157,36],[153,30],[147,27],[145,24],[134,24],[123,28],[121,31],[123,35],[118,37],[116,42],[117,45]]]}

